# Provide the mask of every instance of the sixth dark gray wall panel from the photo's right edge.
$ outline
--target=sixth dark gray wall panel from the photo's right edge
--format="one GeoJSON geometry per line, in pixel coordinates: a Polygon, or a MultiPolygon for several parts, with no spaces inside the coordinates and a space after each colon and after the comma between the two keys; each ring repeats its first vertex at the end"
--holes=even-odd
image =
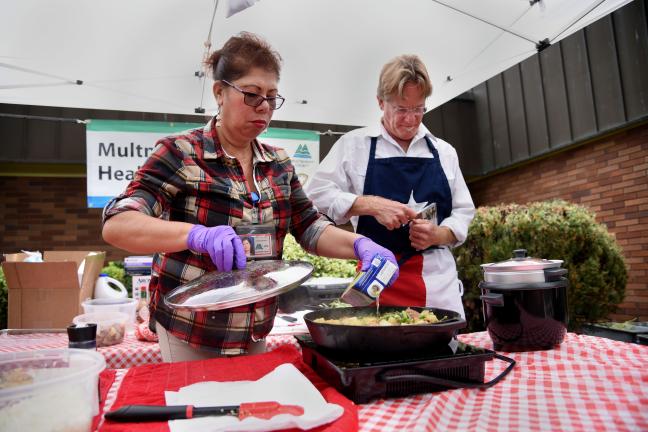
{"type": "Polygon", "coordinates": [[[508,117],[509,137],[511,140],[512,162],[529,157],[526,116],[524,112],[524,93],[520,79],[520,68],[514,66],[503,74],[506,115],[508,117]]]}

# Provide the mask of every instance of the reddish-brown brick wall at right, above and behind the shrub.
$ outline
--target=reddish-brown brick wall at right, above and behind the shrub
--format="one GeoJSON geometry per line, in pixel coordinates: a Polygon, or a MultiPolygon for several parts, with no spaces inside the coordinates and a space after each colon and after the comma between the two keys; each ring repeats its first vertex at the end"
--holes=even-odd
{"type": "Polygon", "coordinates": [[[564,199],[589,207],[623,249],[616,320],[648,321],[648,124],[469,184],[475,205],[564,199]]]}

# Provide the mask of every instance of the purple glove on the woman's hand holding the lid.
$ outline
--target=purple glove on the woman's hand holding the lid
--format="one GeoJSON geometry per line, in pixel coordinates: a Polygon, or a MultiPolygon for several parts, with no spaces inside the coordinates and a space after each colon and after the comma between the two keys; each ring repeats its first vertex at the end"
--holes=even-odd
{"type": "Polygon", "coordinates": [[[205,227],[194,225],[187,237],[187,247],[200,253],[208,253],[218,271],[245,268],[245,249],[241,238],[229,225],[205,227]]]}

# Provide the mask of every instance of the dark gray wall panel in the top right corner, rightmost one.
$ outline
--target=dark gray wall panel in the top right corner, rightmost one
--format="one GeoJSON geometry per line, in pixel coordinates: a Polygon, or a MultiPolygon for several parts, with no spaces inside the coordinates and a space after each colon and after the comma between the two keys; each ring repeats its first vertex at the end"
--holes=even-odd
{"type": "Polygon", "coordinates": [[[648,111],[648,29],[646,5],[634,1],[628,13],[613,15],[627,120],[648,111]]]}

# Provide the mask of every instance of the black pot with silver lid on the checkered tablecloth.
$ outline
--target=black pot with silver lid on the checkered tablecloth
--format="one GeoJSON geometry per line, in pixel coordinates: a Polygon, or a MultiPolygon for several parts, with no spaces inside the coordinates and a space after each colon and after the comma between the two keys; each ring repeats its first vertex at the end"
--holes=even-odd
{"type": "MultiPolygon", "coordinates": [[[[519,269],[512,268],[512,271],[520,273],[519,269]]],[[[538,269],[529,271],[537,273],[538,269]]],[[[567,270],[552,266],[541,269],[541,273],[544,273],[542,282],[515,282],[518,276],[513,275],[507,283],[479,284],[484,322],[495,350],[551,349],[565,338],[569,283],[564,276],[567,270]]]]}

